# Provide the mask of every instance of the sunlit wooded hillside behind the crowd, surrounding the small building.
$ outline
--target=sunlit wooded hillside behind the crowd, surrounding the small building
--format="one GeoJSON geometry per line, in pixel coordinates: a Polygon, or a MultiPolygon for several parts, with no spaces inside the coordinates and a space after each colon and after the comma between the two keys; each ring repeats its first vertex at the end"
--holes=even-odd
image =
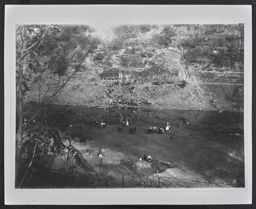
{"type": "Polygon", "coordinates": [[[38,50],[40,59],[30,56],[28,60],[30,71],[25,78],[41,79],[33,83],[26,101],[42,101],[59,78],[67,80],[75,72],[56,101],[105,105],[108,101],[99,97],[105,94],[103,86],[111,83],[100,76],[104,69],[115,67],[123,72],[121,85],[128,86],[114,85],[115,94],[108,95],[110,99],[127,94],[166,108],[243,108],[242,93],[230,96],[243,92],[243,24],[120,25],[111,31],[112,37],[105,38],[97,36],[93,27],[56,26],[54,36],[38,50]],[[84,53],[87,56],[74,70],[76,59],[84,53]],[[87,89],[86,85],[91,86],[87,89]],[[137,85],[135,93],[130,92],[130,85],[137,85]],[[147,92],[145,87],[153,90],[147,92]],[[188,102],[184,107],[183,100],[188,102]]]}

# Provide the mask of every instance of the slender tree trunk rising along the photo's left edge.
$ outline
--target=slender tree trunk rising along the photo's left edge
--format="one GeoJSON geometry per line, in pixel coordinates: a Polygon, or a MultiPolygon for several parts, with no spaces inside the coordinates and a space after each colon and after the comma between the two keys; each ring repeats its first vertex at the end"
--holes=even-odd
{"type": "Polygon", "coordinates": [[[22,133],[23,133],[23,65],[24,65],[24,57],[23,52],[20,53],[20,61],[19,61],[19,76],[18,76],[18,101],[17,101],[17,114],[18,118],[17,123],[17,133],[16,133],[16,162],[15,162],[15,185],[18,184],[17,180],[19,177],[19,169],[20,169],[20,158],[21,158],[21,150],[22,150],[22,133]]]}

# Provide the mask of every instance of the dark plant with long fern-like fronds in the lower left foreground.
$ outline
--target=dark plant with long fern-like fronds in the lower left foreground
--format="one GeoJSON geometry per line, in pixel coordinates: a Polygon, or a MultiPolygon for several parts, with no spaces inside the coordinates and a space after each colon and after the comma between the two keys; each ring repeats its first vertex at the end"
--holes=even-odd
{"type": "Polygon", "coordinates": [[[56,157],[60,155],[66,157],[66,169],[68,169],[68,162],[73,161],[82,171],[95,172],[79,150],[73,146],[73,142],[72,138],[60,136],[55,129],[28,130],[23,137],[22,146],[23,162],[27,169],[19,183],[19,188],[23,184],[31,165],[38,164],[39,167],[42,167],[44,164],[42,161],[47,156],[56,157]]]}

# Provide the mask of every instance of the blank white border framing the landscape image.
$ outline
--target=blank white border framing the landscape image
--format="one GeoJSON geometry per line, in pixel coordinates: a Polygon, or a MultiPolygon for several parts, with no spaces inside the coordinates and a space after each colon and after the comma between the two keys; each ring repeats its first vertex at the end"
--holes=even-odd
{"type": "Polygon", "coordinates": [[[4,44],[5,204],[251,204],[251,5],[6,5],[4,44]],[[15,189],[15,27],[18,24],[244,24],[245,188],[15,189]]]}

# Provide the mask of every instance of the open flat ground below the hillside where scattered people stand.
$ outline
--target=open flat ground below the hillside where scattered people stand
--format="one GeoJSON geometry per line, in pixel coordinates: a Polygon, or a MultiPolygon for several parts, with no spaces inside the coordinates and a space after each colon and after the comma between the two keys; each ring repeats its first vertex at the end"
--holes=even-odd
{"type": "MultiPolygon", "coordinates": [[[[132,175],[135,179],[156,178],[152,163],[136,162],[144,154],[153,160],[162,160],[173,165],[158,173],[162,188],[209,188],[244,187],[244,141],[241,113],[212,111],[172,111],[136,108],[86,108],[72,107],[72,115],[66,120],[73,124],[73,132],[85,129],[89,135],[97,136],[86,144],[76,143],[84,152],[84,158],[98,172],[115,178],[132,175]],[[82,123],[84,114],[96,115],[90,120],[104,120],[106,128],[82,123]],[[98,114],[95,114],[98,113],[98,114]],[[136,134],[129,134],[124,126],[118,132],[121,114],[136,125],[136,134]],[[115,115],[114,117],[111,115],[115,115]],[[189,121],[189,129],[183,121],[189,121]],[[76,122],[77,121],[77,122],[76,122]],[[80,122],[78,122],[80,121],[80,122]],[[147,134],[145,126],[172,124],[171,132],[147,134]],[[230,136],[230,130],[240,135],[230,136]],[[105,150],[100,163],[97,152],[105,150]]],[[[78,140],[79,141],[79,140],[78,140]]]]}

